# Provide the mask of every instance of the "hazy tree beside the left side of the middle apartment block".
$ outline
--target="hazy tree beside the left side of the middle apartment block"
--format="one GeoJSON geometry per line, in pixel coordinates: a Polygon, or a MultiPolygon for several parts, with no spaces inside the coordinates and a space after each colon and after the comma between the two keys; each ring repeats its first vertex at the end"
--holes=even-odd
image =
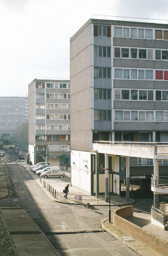
{"type": "Polygon", "coordinates": [[[20,147],[26,148],[28,146],[28,120],[17,127],[18,144],[20,147]]]}

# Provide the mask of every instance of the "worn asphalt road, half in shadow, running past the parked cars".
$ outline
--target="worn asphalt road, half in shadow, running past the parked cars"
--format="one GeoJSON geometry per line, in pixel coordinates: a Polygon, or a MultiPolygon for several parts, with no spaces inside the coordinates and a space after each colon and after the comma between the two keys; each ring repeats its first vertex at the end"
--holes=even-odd
{"type": "Polygon", "coordinates": [[[5,175],[13,207],[30,213],[61,256],[139,255],[108,232],[98,232],[102,219],[108,217],[108,207],[97,207],[94,212],[55,202],[35,182],[35,174],[20,165],[5,165],[5,175]]]}

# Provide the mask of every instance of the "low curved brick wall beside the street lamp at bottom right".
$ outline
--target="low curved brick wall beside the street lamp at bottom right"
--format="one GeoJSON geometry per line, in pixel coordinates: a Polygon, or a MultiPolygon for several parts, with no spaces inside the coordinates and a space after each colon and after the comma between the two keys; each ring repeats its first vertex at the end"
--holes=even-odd
{"type": "Polygon", "coordinates": [[[168,242],[163,238],[157,237],[149,231],[127,221],[126,217],[133,216],[133,206],[126,206],[117,209],[113,212],[113,225],[123,232],[126,232],[134,239],[142,241],[147,246],[151,247],[156,252],[167,256],[168,255],[168,242]]]}

